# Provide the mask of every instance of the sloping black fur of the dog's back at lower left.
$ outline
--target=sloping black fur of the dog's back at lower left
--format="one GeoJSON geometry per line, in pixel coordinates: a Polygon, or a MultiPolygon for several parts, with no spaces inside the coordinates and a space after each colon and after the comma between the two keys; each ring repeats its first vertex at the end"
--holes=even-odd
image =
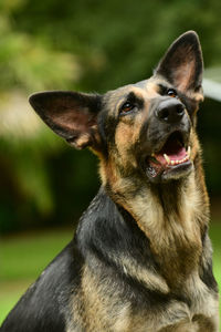
{"type": "Polygon", "coordinates": [[[71,241],[10,312],[1,332],[65,331],[65,294],[77,283],[81,259],[71,241]]]}

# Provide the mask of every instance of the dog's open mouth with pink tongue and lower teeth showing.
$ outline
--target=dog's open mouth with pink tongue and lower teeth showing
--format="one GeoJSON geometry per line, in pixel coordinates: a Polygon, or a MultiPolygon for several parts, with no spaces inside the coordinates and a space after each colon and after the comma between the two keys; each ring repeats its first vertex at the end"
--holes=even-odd
{"type": "Polygon", "coordinates": [[[183,136],[180,132],[170,134],[160,151],[151,154],[147,158],[147,172],[151,177],[157,177],[160,174],[186,168],[189,166],[191,147],[187,146],[183,136]]]}

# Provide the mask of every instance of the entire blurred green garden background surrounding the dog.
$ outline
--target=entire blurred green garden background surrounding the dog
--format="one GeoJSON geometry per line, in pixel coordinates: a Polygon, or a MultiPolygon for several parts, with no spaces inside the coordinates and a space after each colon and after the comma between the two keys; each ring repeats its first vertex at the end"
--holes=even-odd
{"type": "MultiPolygon", "coordinates": [[[[96,157],[56,137],[28,96],[147,79],[187,30],[200,37],[206,76],[221,82],[220,17],[220,0],[0,0],[0,320],[71,238],[99,185],[96,157]]],[[[220,102],[206,98],[198,131],[221,282],[220,102]]]]}

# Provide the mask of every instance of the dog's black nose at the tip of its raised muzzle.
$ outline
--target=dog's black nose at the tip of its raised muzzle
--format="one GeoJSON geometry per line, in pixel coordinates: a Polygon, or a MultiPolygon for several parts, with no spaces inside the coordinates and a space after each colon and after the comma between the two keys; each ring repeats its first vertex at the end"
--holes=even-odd
{"type": "Polygon", "coordinates": [[[162,101],[156,110],[156,116],[167,123],[179,122],[185,114],[185,105],[176,98],[162,101]]]}

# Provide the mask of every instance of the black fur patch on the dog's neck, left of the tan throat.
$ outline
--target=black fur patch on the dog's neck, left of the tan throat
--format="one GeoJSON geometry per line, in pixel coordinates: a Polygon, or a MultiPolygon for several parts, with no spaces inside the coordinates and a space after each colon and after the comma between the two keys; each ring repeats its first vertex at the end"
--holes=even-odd
{"type": "Polygon", "coordinates": [[[77,228],[77,239],[83,252],[87,252],[87,247],[96,247],[104,255],[109,250],[131,252],[144,264],[149,261],[149,266],[156,268],[149,249],[149,240],[131,216],[114,204],[104,188],[101,188],[83,215],[77,228]],[[145,257],[143,257],[144,253],[145,257]]]}

